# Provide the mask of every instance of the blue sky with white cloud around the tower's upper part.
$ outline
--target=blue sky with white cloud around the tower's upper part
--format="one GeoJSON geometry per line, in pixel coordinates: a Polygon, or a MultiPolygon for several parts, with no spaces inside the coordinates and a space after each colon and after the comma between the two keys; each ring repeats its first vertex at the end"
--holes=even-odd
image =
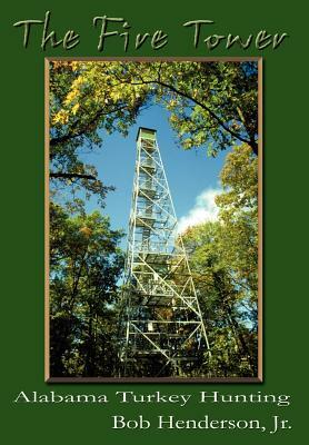
{"type": "MultiPolygon", "coordinates": [[[[136,137],[139,127],[157,130],[157,140],[165,166],[179,230],[203,220],[216,219],[215,196],[220,191],[219,172],[227,152],[217,158],[207,156],[207,148],[185,150],[177,145],[177,138],[168,122],[168,111],[160,106],[143,110],[128,137],[119,134],[103,135],[102,149],[83,156],[87,164],[98,169],[99,179],[106,186],[114,186],[106,198],[103,215],[110,216],[111,228],[128,231],[131,194],[137,152],[136,137]]],[[[96,202],[88,205],[88,211],[96,209],[96,202]]],[[[121,241],[126,248],[127,238],[121,241]]]]}

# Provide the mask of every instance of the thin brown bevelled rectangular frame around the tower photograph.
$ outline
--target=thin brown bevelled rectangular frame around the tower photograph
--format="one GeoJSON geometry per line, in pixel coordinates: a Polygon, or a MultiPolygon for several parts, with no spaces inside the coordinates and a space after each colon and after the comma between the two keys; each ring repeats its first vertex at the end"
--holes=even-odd
{"type": "Polygon", "coordinates": [[[263,382],[263,63],[262,57],[47,57],[44,58],[44,382],[46,383],[262,383],[263,382]],[[51,377],[49,298],[49,65],[51,61],[257,61],[258,62],[258,376],[257,377],[51,377]]]}

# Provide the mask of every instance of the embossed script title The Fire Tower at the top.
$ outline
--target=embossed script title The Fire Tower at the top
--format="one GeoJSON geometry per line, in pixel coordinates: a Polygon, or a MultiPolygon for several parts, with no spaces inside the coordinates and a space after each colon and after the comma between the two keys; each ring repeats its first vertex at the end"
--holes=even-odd
{"type": "MultiPolygon", "coordinates": [[[[22,29],[22,44],[24,48],[29,44],[39,44],[42,50],[56,47],[71,50],[81,41],[81,36],[73,29],[67,30],[60,37],[59,32],[52,29],[50,11],[46,12],[43,20],[21,20],[13,23],[13,26],[22,29]],[[34,27],[37,28],[36,34],[32,30],[34,27]],[[41,38],[39,39],[38,28],[41,30],[41,38]]],[[[289,37],[287,32],[270,33],[266,29],[247,36],[231,34],[229,32],[217,33],[213,32],[215,27],[216,23],[213,20],[189,20],[181,24],[181,30],[186,29],[188,39],[190,39],[193,48],[205,48],[207,51],[212,51],[216,48],[229,50],[235,47],[241,50],[277,49],[289,37]]],[[[139,50],[147,46],[152,50],[159,51],[168,44],[171,38],[168,32],[161,29],[138,32],[126,18],[111,18],[107,16],[94,17],[92,29],[97,33],[97,49],[99,52],[107,51],[109,43],[112,41],[113,44],[117,41],[119,50],[123,50],[124,52],[128,50],[139,50]]]]}

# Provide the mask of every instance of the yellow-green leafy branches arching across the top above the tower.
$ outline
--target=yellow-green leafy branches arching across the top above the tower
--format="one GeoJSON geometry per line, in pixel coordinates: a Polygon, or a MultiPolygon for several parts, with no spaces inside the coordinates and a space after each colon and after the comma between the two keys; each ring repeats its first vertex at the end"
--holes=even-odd
{"type": "Polygon", "coordinates": [[[185,148],[208,144],[216,155],[242,141],[258,152],[256,62],[54,63],[69,81],[60,97],[54,87],[51,146],[84,138],[98,144],[99,129],[126,134],[141,107],[157,100],[171,111],[185,148]]]}

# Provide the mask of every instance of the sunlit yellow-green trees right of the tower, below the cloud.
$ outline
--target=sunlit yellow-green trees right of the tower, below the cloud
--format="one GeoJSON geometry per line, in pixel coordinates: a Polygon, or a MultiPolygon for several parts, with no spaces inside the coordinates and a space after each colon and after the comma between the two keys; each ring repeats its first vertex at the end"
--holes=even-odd
{"type": "Polygon", "coordinates": [[[249,147],[235,147],[221,172],[219,220],[189,228],[189,254],[217,377],[257,376],[258,174],[249,147]]]}

